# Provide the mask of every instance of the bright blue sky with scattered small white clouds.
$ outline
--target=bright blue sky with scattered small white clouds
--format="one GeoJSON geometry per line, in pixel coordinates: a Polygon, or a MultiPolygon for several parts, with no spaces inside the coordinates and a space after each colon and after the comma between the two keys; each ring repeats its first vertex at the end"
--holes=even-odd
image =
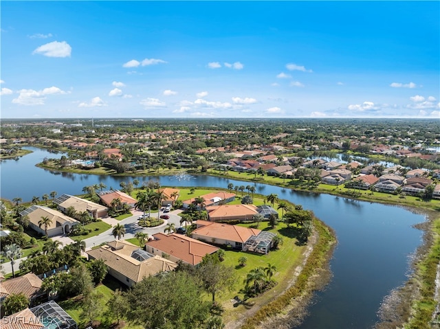
{"type": "Polygon", "coordinates": [[[2,118],[440,118],[439,1],[0,5],[2,118]]]}

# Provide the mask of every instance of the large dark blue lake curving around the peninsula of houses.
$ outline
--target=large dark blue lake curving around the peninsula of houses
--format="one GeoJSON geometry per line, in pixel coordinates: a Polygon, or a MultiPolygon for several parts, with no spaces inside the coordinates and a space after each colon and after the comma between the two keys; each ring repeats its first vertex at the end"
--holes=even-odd
{"type": "MultiPolygon", "coordinates": [[[[223,177],[196,176],[190,179],[163,177],[109,177],[87,174],[54,173],[34,165],[45,157],[61,157],[46,150],[34,152],[18,161],[1,161],[2,198],[23,198],[50,194],[81,194],[85,186],[103,182],[107,188],[120,188],[121,181],[155,179],[161,185],[226,188],[253,183],[223,177]]],[[[299,328],[360,329],[371,328],[378,321],[377,310],[393,288],[401,286],[410,273],[410,257],[421,245],[422,233],[413,225],[426,215],[402,207],[382,205],[327,194],[294,192],[256,183],[256,192],[278,194],[279,198],[301,204],[336,231],[338,246],[330,262],[331,282],[314,297],[310,316],[299,328]]]]}

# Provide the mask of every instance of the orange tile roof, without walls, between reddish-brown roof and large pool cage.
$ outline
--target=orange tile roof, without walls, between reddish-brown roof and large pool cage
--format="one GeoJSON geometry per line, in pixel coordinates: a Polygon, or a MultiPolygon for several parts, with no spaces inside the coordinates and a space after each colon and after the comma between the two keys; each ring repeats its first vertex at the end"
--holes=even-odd
{"type": "Polygon", "coordinates": [[[246,242],[251,236],[257,236],[261,232],[261,229],[208,222],[206,220],[197,220],[196,224],[197,229],[192,231],[192,234],[242,243],[246,242]]]}

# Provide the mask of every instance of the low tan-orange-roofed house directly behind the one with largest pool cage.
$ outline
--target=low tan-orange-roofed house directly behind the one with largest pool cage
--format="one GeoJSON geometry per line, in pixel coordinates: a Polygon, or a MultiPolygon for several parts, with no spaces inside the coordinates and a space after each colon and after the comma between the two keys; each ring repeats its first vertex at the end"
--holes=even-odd
{"type": "Polygon", "coordinates": [[[212,205],[206,207],[208,218],[218,220],[252,220],[259,212],[254,205],[212,205]]]}

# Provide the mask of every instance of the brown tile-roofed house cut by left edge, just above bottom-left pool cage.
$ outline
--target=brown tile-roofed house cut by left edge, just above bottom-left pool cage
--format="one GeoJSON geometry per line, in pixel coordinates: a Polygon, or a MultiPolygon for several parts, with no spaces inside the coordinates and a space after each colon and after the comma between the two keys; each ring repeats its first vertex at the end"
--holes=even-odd
{"type": "Polygon", "coordinates": [[[23,293],[30,300],[30,304],[38,297],[45,295],[41,291],[43,281],[34,273],[28,273],[13,279],[4,280],[0,284],[0,304],[9,295],[17,295],[23,293]]]}

